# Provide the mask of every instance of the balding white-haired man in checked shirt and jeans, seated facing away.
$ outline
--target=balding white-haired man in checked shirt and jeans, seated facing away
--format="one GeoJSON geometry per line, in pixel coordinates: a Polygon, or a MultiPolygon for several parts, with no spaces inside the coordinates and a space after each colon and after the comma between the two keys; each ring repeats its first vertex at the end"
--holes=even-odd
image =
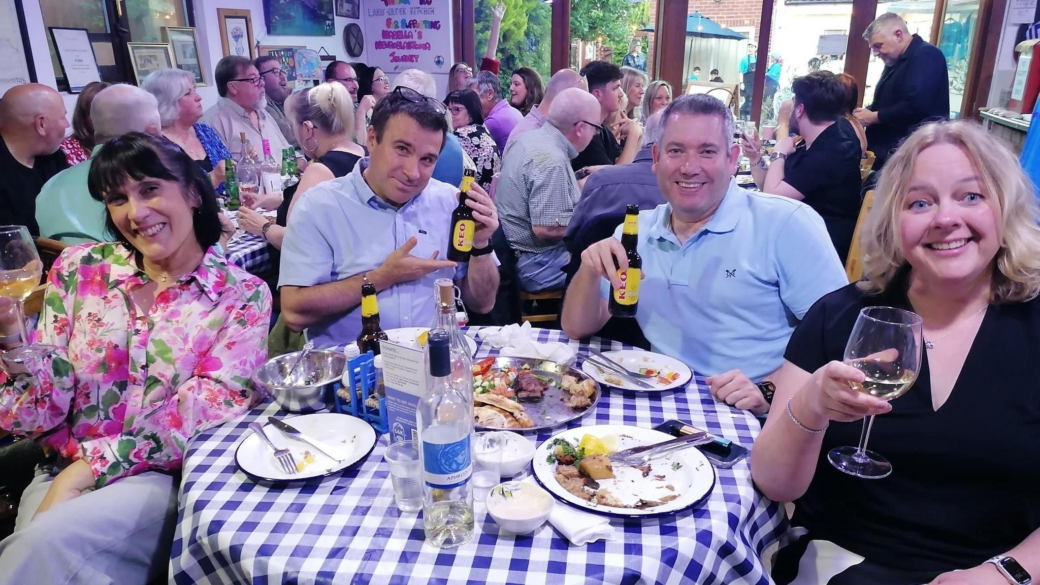
{"type": "Polygon", "coordinates": [[[518,281],[528,292],[564,285],[570,255],[563,238],[581,196],[571,160],[599,134],[599,101],[569,87],[552,100],[546,118],[510,147],[495,192],[502,231],[517,254],[518,281]]]}

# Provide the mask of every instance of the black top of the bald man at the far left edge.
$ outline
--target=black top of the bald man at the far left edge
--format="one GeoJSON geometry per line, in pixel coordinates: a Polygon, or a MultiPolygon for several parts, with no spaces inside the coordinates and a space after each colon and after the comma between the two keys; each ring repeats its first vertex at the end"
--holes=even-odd
{"type": "Polygon", "coordinates": [[[36,196],[51,177],[69,168],[61,149],[37,156],[32,168],[19,162],[0,136],[0,225],[26,226],[40,235],[36,196]]]}

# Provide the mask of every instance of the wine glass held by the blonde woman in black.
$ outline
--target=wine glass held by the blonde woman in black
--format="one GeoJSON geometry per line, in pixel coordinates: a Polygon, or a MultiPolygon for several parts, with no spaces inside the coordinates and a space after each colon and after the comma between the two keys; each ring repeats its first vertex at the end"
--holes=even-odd
{"type": "MultiPolygon", "coordinates": [[[[896,399],[913,385],[920,371],[922,324],[916,313],[892,307],[865,307],[846,345],[844,362],[866,376],[855,390],[882,400],[896,399]]],[[[831,464],[849,475],[881,479],[892,464],[866,450],[874,415],[863,421],[859,447],[839,447],[827,454],[831,464]]]]}

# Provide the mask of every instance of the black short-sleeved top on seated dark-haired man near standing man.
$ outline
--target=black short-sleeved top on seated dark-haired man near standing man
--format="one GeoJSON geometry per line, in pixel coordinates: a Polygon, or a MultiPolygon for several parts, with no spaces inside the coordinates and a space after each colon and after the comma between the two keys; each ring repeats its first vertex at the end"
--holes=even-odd
{"type": "Polygon", "coordinates": [[[852,124],[844,118],[816,136],[812,148],[804,145],[784,161],[783,180],[805,196],[805,203],[827,224],[841,263],[849,255],[859,208],[859,160],[862,151],[852,124]]]}

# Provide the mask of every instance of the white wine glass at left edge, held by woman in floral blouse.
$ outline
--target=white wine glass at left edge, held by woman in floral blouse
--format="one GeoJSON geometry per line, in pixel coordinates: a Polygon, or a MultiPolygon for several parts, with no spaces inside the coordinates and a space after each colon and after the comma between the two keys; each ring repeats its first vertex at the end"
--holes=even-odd
{"type": "Polygon", "coordinates": [[[53,346],[29,345],[25,330],[25,300],[40,284],[44,263],[25,226],[0,226],[0,297],[15,302],[22,345],[3,353],[10,362],[22,363],[54,351],[53,346]]]}

